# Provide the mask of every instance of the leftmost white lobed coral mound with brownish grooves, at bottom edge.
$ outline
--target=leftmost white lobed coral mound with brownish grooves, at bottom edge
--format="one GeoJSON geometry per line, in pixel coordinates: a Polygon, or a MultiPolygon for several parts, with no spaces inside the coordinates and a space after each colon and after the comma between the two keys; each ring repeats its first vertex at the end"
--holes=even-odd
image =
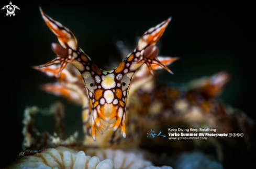
{"type": "Polygon", "coordinates": [[[58,147],[47,149],[35,155],[24,156],[7,168],[74,168],[74,169],[113,169],[110,159],[102,162],[96,157],[85,155],[84,151],[58,147]]]}

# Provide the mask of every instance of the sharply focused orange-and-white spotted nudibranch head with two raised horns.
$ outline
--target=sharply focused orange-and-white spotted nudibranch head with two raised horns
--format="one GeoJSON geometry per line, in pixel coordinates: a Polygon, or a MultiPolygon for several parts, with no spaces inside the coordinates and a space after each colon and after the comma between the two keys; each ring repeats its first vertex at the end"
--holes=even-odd
{"type": "Polygon", "coordinates": [[[71,63],[74,65],[83,77],[88,99],[90,100],[85,121],[88,122],[91,114],[93,140],[96,140],[96,129],[101,134],[103,134],[101,128],[106,129],[100,119],[109,122],[113,118],[116,119],[107,128],[114,127],[113,130],[115,131],[120,126],[120,132],[125,138],[127,97],[131,78],[135,71],[145,63],[152,74],[151,64],[157,64],[172,73],[168,67],[158,60],[158,48],[155,46],[171,18],[146,31],[140,38],[136,49],[114,70],[106,71],[99,69],[92,62],[92,59],[80,49],[76,38],[68,28],[44,14],[42,10],[41,15],[50,30],[57,35],[61,45],[53,43],[52,49],[57,54],[57,57],[38,68],[60,63],[60,75],[66,64],[71,63]]]}

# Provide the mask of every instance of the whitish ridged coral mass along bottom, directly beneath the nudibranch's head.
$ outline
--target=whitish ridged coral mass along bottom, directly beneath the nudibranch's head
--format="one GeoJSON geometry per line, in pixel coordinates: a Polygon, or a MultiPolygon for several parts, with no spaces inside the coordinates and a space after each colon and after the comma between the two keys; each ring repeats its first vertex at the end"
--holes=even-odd
{"type": "Polygon", "coordinates": [[[112,149],[93,150],[90,148],[78,152],[60,146],[55,149],[46,149],[34,155],[24,156],[7,168],[171,169],[172,167],[152,166],[150,161],[143,159],[142,154],[135,152],[112,149]],[[91,157],[85,154],[96,154],[96,156],[91,157]]]}

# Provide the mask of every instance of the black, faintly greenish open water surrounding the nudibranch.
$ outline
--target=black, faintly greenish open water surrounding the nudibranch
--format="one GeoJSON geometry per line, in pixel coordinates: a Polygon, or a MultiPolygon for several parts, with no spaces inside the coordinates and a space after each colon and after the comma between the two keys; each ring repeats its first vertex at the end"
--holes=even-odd
{"type": "MultiPolygon", "coordinates": [[[[26,106],[47,108],[59,100],[65,105],[68,134],[75,130],[82,133],[81,107],[40,90],[40,84],[54,80],[31,69],[31,66],[51,61],[55,57],[51,43],[58,42],[44,23],[39,6],[68,27],[83,51],[103,69],[113,69],[111,61],[121,61],[115,46],[117,40],[134,49],[137,36],[172,16],[160,39],[159,56],[177,56],[180,60],[170,66],[174,75],[162,71],[158,80],[186,83],[226,70],[231,80],[220,95],[221,100],[256,119],[255,10],[252,6],[187,2],[169,2],[168,5],[81,4],[73,1],[12,3],[20,8],[15,10],[15,16],[6,17],[6,10],[0,13],[3,37],[0,167],[14,161],[22,151],[21,121],[26,106]]],[[[3,7],[9,1],[0,4],[3,7]]],[[[45,126],[44,122],[46,120],[42,118],[38,126],[45,126]]],[[[50,130],[50,126],[43,129],[50,130]]]]}

